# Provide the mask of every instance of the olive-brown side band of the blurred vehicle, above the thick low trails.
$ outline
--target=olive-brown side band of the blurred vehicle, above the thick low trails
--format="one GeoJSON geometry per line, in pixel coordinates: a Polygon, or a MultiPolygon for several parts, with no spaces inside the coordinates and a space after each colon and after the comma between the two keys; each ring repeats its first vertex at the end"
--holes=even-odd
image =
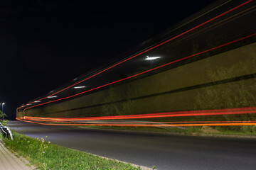
{"type": "Polygon", "coordinates": [[[252,43],[87,96],[31,108],[26,115],[75,118],[255,106],[255,73],[252,43]]]}

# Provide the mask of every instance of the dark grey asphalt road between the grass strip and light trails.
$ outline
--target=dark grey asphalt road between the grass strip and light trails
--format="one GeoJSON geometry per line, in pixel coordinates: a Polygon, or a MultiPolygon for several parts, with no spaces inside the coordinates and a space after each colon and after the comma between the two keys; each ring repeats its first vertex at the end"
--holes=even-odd
{"type": "Polygon", "coordinates": [[[149,135],[9,121],[53,144],[156,169],[256,169],[256,139],[149,135]]]}

